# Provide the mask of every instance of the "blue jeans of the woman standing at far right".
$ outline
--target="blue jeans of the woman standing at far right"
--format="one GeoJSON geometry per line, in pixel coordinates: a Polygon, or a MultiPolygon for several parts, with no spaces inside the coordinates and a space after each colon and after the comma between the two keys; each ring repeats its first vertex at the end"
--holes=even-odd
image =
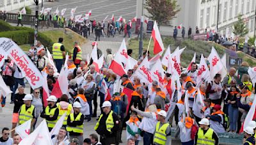
{"type": "Polygon", "coordinates": [[[229,117],[229,123],[230,123],[230,130],[236,131],[236,125],[238,120],[238,108],[232,107],[231,104],[228,106],[228,117],[229,117]]]}

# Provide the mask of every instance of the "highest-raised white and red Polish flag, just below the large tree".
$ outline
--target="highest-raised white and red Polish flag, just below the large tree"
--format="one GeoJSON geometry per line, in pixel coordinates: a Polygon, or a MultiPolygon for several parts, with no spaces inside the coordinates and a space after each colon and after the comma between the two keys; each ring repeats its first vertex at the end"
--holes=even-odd
{"type": "Polygon", "coordinates": [[[164,50],[163,41],[161,39],[161,35],[157,27],[156,21],[154,22],[154,27],[151,36],[154,39],[154,55],[156,55],[157,53],[164,50]]]}

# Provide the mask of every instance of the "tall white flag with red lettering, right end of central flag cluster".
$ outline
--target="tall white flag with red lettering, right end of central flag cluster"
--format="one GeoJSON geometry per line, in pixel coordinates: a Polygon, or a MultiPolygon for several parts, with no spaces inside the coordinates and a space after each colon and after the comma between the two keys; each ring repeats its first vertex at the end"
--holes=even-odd
{"type": "Polygon", "coordinates": [[[210,62],[210,76],[211,80],[213,80],[214,76],[223,68],[220,56],[213,47],[208,60],[210,62]]]}

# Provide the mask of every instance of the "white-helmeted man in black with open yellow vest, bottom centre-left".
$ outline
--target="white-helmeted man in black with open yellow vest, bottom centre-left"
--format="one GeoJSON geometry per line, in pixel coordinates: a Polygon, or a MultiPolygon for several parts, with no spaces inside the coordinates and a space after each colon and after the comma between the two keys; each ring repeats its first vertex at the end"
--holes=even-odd
{"type": "Polygon", "coordinates": [[[111,102],[105,101],[102,104],[103,113],[100,114],[99,121],[94,129],[100,135],[102,145],[118,144],[116,142],[116,132],[120,129],[118,116],[111,111],[111,102]]]}

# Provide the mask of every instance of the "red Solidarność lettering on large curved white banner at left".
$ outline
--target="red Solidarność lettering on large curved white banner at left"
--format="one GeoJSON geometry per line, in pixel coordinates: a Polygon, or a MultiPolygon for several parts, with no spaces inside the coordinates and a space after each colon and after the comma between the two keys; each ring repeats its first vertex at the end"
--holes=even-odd
{"type": "Polygon", "coordinates": [[[10,53],[13,59],[15,59],[17,66],[25,72],[26,76],[31,80],[32,85],[35,85],[36,81],[40,81],[39,76],[36,76],[35,72],[29,68],[28,60],[24,56],[19,56],[17,50],[12,50],[10,53]]]}

